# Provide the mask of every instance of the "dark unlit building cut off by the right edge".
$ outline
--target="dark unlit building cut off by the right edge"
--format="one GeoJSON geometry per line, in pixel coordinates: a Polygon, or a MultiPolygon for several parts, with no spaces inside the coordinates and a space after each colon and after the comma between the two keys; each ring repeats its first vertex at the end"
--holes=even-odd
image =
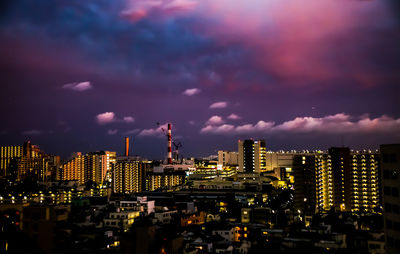
{"type": "Polygon", "coordinates": [[[400,253],[400,144],[381,145],[386,253],[400,253]]]}

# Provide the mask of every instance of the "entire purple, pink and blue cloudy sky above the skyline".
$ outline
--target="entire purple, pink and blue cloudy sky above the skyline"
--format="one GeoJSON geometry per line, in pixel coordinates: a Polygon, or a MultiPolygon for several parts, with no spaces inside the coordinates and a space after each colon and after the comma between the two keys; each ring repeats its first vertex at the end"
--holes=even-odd
{"type": "Polygon", "coordinates": [[[400,142],[390,0],[8,0],[0,143],[163,158],[400,142]]]}

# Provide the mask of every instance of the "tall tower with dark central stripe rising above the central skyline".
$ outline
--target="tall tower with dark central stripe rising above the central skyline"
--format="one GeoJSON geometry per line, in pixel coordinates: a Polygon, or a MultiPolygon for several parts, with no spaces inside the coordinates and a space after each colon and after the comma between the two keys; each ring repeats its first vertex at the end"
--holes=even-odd
{"type": "Polygon", "coordinates": [[[238,153],[240,172],[264,172],[266,170],[266,146],[264,140],[239,140],[238,153]]]}

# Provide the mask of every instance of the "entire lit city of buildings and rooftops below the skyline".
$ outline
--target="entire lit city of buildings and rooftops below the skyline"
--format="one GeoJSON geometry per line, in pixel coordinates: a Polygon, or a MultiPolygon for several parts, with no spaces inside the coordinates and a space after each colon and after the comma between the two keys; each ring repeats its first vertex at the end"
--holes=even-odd
{"type": "Polygon", "coordinates": [[[400,144],[273,152],[248,139],[237,151],[169,161],[168,132],[160,161],[129,156],[129,140],[123,156],[62,161],[30,141],[2,146],[2,232],[18,235],[2,250],[29,252],[17,244],[25,237],[42,253],[397,251],[400,144]]]}

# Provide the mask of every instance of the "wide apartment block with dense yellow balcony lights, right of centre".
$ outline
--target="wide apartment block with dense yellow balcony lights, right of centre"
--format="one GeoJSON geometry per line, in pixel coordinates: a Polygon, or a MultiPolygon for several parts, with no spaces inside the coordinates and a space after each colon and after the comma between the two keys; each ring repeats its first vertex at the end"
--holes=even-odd
{"type": "Polygon", "coordinates": [[[298,208],[309,207],[304,200],[311,206],[315,200],[316,211],[375,212],[382,204],[376,152],[333,147],[328,153],[296,155],[293,174],[298,208]]]}

